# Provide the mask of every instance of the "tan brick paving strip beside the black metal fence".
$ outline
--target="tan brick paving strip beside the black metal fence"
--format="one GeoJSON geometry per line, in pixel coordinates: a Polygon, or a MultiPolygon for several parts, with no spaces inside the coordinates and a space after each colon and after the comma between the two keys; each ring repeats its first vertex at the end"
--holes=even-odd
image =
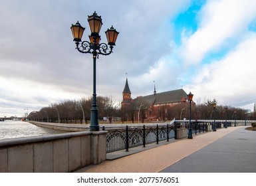
{"type": "MultiPolygon", "coordinates": [[[[235,135],[239,135],[239,134],[243,134],[243,132],[247,132],[247,130],[245,130],[245,126],[223,128],[223,129],[217,130],[217,132],[207,132],[204,134],[199,134],[199,135],[197,134],[196,136],[193,135],[193,139],[175,140],[175,142],[170,141],[169,143],[167,142],[162,143],[162,145],[158,147],[154,147],[156,145],[153,144],[152,147],[154,148],[151,148],[151,149],[150,147],[148,147],[148,149],[140,147],[141,149],[144,150],[140,152],[137,152],[136,150],[132,151],[132,149],[129,149],[128,154],[129,153],[134,153],[134,154],[131,154],[128,156],[124,156],[124,155],[127,155],[127,152],[125,152],[125,150],[119,151],[120,158],[118,158],[118,153],[108,154],[108,158],[114,159],[114,160],[112,161],[106,160],[100,163],[100,165],[90,165],[88,167],[85,167],[84,169],[80,169],[77,172],[85,172],[85,173],[137,173],[137,172],[158,173],[160,171],[170,172],[168,168],[172,167],[171,165],[174,165],[174,163],[180,161],[181,159],[184,159],[185,157],[188,157],[189,155],[192,155],[192,153],[199,151],[199,149],[206,147],[207,145],[213,143],[216,140],[219,140],[220,138],[223,138],[227,134],[233,134],[232,132],[235,132],[236,130],[241,130],[242,132],[237,132],[235,135]]],[[[256,132],[251,132],[250,134],[253,134],[253,136],[256,137],[256,132]]],[[[237,136],[237,138],[239,138],[239,136],[237,136]]],[[[225,140],[225,138],[223,139],[225,140]]],[[[241,139],[244,139],[244,137],[241,139]]],[[[229,140],[229,142],[232,143],[232,141],[230,141],[230,138],[227,138],[227,140],[229,140]]],[[[254,138],[254,141],[256,141],[256,138],[254,138]]],[[[253,143],[250,143],[250,145],[252,144],[253,143]]],[[[243,145],[246,145],[246,143],[243,143],[243,145]]],[[[218,146],[221,147],[221,145],[218,145],[218,146]]],[[[247,147],[247,149],[250,149],[250,148],[253,148],[253,151],[256,152],[256,145],[247,147]]],[[[210,159],[211,154],[208,154],[208,155],[209,156],[207,158],[210,159]]],[[[232,154],[229,154],[229,155],[232,158],[232,154]]],[[[253,158],[255,159],[255,154],[253,158]]],[[[250,160],[251,159],[247,159],[247,161],[250,161],[250,160]]],[[[211,163],[214,163],[214,162],[211,162],[211,163]]],[[[185,167],[183,165],[181,166],[185,167]]],[[[207,168],[205,169],[206,169],[205,171],[207,172],[207,168]]],[[[255,169],[256,169],[256,166],[255,166],[255,169]]],[[[189,172],[189,171],[186,171],[186,172],[189,172]]]]}

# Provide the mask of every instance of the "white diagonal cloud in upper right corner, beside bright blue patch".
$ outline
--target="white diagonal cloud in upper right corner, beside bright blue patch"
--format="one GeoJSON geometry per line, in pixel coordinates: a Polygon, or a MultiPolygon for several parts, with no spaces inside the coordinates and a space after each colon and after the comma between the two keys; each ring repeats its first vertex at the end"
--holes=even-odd
{"type": "Polygon", "coordinates": [[[180,56],[186,64],[198,64],[203,58],[239,41],[253,19],[256,1],[207,1],[199,11],[198,29],[184,35],[180,56]]]}

